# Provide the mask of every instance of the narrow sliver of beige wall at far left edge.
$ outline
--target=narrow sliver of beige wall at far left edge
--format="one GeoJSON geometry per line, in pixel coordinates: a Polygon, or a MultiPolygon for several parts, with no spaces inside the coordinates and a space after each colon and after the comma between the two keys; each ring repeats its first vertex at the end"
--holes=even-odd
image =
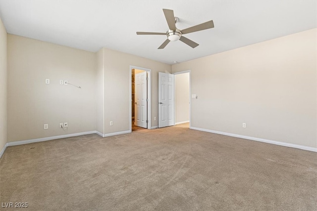
{"type": "Polygon", "coordinates": [[[7,141],[7,34],[0,19],[0,152],[7,141]]]}

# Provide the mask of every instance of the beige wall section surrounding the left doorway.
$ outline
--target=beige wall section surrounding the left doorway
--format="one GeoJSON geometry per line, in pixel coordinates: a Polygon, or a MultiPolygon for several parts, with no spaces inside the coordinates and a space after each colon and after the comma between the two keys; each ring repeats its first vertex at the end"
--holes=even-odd
{"type": "Polygon", "coordinates": [[[130,129],[130,65],[151,69],[152,127],[158,126],[159,72],[171,73],[171,65],[104,48],[105,133],[130,129]],[[113,121],[113,126],[109,122],[113,121]]]}

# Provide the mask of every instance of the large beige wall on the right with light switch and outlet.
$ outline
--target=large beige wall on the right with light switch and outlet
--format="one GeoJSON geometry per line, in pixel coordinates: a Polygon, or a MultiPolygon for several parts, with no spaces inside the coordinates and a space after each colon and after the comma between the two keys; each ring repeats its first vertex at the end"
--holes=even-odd
{"type": "Polygon", "coordinates": [[[173,73],[191,70],[191,126],[317,147],[316,34],[173,65],[173,73]]]}

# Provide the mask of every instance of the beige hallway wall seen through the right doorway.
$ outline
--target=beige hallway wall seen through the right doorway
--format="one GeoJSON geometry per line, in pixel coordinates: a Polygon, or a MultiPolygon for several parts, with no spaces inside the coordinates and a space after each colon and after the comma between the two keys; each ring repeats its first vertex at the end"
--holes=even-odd
{"type": "Polygon", "coordinates": [[[175,123],[189,121],[189,74],[175,75],[175,123]]]}

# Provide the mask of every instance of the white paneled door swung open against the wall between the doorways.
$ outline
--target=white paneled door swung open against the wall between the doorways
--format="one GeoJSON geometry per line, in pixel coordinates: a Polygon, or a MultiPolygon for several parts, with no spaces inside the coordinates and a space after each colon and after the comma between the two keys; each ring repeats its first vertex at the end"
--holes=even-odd
{"type": "Polygon", "coordinates": [[[159,127],[174,125],[174,75],[159,73],[159,127]]]}

